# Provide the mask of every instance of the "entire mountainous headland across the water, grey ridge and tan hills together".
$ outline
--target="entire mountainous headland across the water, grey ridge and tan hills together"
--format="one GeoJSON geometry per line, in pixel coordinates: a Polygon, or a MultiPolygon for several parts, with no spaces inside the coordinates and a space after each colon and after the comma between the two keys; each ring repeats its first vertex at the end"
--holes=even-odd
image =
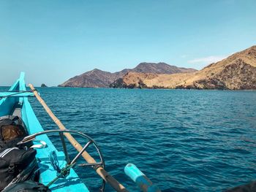
{"type": "Polygon", "coordinates": [[[141,63],[134,69],[115,73],[94,69],[70,78],[59,87],[255,90],[256,46],[200,71],[165,63],[141,63]]]}

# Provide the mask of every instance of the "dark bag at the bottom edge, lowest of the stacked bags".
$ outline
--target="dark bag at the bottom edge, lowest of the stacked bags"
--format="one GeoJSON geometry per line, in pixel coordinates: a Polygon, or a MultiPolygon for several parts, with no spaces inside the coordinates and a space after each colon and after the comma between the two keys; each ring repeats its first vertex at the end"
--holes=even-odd
{"type": "Polygon", "coordinates": [[[8,186],[2,192],[50,192],[50,189],[42,185],[41,183],[37,183],[31,180],[26,180],[20,183],[14,183],[8,186]]]}

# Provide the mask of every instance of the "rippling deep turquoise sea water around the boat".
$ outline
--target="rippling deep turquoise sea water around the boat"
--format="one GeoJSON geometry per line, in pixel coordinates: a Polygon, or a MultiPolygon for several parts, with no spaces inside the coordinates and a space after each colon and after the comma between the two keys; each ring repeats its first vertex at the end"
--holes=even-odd
{"type": "MultiPolygon", "coordinates": [[[[127,163],[136,164],[162,191],[222,191],[256,179],[256,91],[39,92],[67,128],[97,141],[107,171],[130,191],[137,188],[124,174],[127,163]]],[[[36,99],[30,101],[42,126],[56,128],[36,99]]],[[[53,140],[61,146],[58,137],[53,140]]],[[[77,170],[97,191],[97,174],[77,170]]]]}

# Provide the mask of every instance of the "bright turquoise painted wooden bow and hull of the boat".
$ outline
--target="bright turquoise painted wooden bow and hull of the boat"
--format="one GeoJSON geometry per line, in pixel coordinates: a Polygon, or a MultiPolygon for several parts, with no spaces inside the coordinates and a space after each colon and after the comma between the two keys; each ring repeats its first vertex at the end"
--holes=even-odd
{"type": "MultiPolygon", "coordinates": [[[[20,74],[20,78],[12,85],[9,91],[26,91],[26,84],[24,81],[24,73],[20,74]]],[[[3,93],[2,93],[3,94],[3,93]]],[[[1,95],[1,94],[0,94],[1,95]]],[[[30,134],[34,134],[39,131],[43,131],[39,120],[37,119],[34,111],[29,103],[27,96],[16,97],[7,97],[0,100],[0,116],[3,115],[12,115],[13,108],[15,105],[21,106],[21,117],[23,118],[24,123],[26,124],[30,134]]],[[[49,118],[50,120],[50,118],[49,118]]],[[[67,162],[64,160],[64,153],[56,150],[53,143],[46,135],[37,137],[39,140],[43,140],[47,143],[47,147],[43,149],[37,149],[37,159],[40,169],[40,182],[47,185],[56,177],[56,171],[50,164],[49,154],[51,151],[55,150],[59,164],[64,166],[67,162]]],[[[36,144],[36,143],[35,143],[36,144]]],[[[75,173],[73,169],[70,170],[70,174],[67,178],[59,179],[56,183],[50,186],[50,189],[54,192],[59,191],[89,191],[84,183],[78,177],[78,174],[75,173]]]]}

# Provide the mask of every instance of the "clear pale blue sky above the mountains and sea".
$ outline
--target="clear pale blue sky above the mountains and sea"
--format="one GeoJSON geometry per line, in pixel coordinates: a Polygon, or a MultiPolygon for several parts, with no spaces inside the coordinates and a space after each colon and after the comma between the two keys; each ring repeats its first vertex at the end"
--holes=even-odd
{"type": "Polygon", "coordinates": [[[255,0],[1,0],[0,85],[140,62],[201,69],[256,45],[255,0]]]}

